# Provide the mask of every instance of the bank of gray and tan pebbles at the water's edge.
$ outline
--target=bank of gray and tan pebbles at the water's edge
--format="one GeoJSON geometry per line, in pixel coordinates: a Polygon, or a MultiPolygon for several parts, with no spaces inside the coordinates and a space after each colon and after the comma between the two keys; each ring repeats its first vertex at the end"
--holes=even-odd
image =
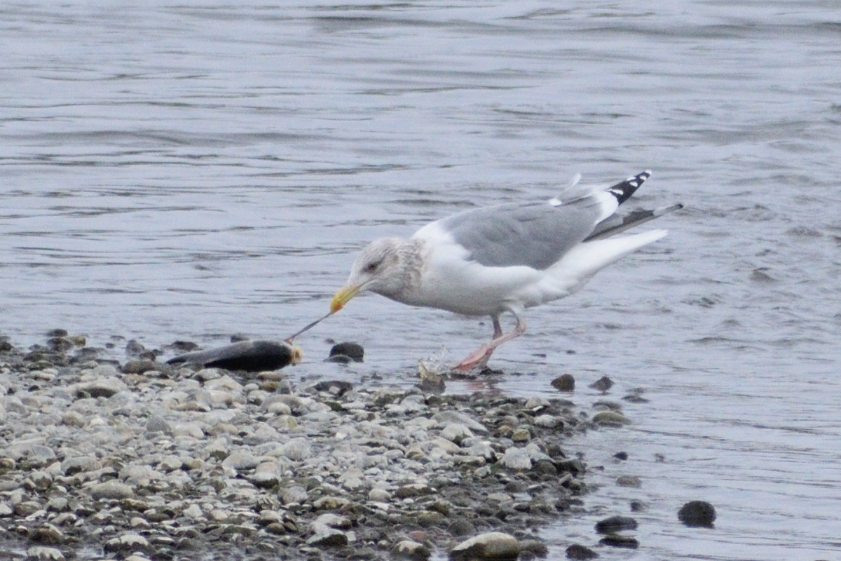
{"type": "Polygon", "coordinates": [[[624,422],[371,384],[0,340],[0,559],[541,557],[586,492],[564,441],[624,422]]]}

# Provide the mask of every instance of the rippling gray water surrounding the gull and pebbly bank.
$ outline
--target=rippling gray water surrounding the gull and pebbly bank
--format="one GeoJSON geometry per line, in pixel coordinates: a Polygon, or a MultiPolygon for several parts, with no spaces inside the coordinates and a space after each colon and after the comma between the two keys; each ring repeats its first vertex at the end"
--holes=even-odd
{"type": "MultiPolygon", "coordinates": [[[[590,514],[543,532],[555,557],[639,499],[642,548],[602,558],[838,558],[841,6],[627,4],[4,3],[0,333],[288,336],[366,241],[652,168],[629,204],[687,204],[669,236],[529,310],[505,375],[451,389],[645,390],[633,426],[574,443],[605,469],[590,514]],[[694,499],[714,530],[677,521],[694,499]]],[[[490,331],[360,298],[289,373],[412,384],[490,331]],[[321,363],[328,337],[367,362],[321,363]]]]}

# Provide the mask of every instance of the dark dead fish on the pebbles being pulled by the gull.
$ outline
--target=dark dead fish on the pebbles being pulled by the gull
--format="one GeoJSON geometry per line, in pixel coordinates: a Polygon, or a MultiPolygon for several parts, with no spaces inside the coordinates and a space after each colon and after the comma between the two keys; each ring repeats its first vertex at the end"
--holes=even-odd
{"type": "Polygon", "coordinates": [[[188,352],[169,359],[167,364],[197,363],[204,368],[260,372],[297,364],[301,357],[300,347],[285,341],[240,341],[209,351],[188,352]]]}

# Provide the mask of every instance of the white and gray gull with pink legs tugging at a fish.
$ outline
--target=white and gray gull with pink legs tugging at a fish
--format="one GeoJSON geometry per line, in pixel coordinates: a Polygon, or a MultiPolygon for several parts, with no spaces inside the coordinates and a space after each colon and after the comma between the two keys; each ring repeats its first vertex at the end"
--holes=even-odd
{"type": "Polygon", "coordinates": [[[646,171],[604,188],[580,185],[576,175],[548,201],[471,209],[431,222],[408,240],[373,241],[353,262],[327,316],[366,291],[412,306],[489,315],[491,341],[453,367],[486,368],[496,347],[526,331],[523,310],[575,293],[604,267],[666,235],[616,236],[683,208],[615,214],[650,176],[646,171]],[[509,333],[500,325],[505,312],[516,321],[509,333]]]}

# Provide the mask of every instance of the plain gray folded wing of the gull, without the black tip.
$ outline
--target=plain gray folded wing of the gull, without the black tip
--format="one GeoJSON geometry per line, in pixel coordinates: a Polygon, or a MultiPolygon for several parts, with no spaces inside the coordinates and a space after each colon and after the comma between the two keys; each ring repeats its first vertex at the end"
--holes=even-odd
{"type": "Polygon", "coordinates": [[[500,204],[439,220],[470,259],[487,267],[525,265],[545,270],[592,234],[604,214],[598,198],[500,204]]]}

